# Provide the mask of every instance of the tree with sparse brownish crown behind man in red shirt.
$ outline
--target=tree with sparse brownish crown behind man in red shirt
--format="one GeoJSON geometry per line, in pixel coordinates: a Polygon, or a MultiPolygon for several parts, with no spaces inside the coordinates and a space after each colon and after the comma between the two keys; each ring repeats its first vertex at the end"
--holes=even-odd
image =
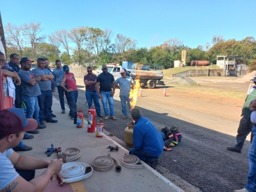
{"type": "Polygon", "coordinates": [[[87,47],[85,47],[85,44],[89,37],[88,28],[84,26],[72,28],[68,34],[68,37],[71,40],[71,42],[74,42],[74,44],[76,45],[75,51],[76,55],[78,55],[78,60],[76,59],[76,62],[78,62],[78,64],[82,64],[82,49],[84,49],[83,52],[87,49],[87,47]]]}

